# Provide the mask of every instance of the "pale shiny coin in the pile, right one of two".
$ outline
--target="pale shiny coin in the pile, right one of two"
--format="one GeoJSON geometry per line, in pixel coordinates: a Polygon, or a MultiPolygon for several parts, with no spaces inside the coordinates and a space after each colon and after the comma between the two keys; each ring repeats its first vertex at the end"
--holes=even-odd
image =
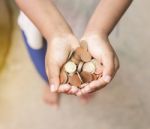
{"type": "Polygon", "coordinates": [[[88,73],[94,73],[95,72],[95,66],[92,62],[87,62],[83,65],[83,71],[88,73]]]}

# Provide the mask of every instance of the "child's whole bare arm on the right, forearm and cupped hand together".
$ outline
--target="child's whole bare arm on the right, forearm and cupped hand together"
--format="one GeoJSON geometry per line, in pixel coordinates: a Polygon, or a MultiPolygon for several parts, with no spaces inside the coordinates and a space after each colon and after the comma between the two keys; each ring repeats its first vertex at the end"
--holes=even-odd
{"type": "Polygon", "coordinates": [[[101,0],[93,13],[82,39],[87,41],[91,55],[103,64],[103,76],[78,91],[78,96],[105,87],[119,69],[118,57],[108,37],[131,2],[132,0],[101,0]]]}

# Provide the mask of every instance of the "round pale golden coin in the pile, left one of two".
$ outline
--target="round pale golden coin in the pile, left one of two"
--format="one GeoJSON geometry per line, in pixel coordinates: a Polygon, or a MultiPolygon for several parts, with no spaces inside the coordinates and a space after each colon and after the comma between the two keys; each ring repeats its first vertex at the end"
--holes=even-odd
{"type": "Polygon", "coordinates": [[[72,61],[67,62],[64,67],[67,73],[74,73],[76,71],[76,64],[72,61]]]}

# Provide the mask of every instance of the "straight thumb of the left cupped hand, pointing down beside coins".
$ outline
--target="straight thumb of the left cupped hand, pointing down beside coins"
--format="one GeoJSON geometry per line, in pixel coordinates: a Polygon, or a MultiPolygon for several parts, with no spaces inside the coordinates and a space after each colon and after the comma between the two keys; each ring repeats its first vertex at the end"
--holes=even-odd
{"type": "Polygon", "coordinates": [[[47,69],[50,91],[56,92],[59,87],[59,66],[50,63],[49,66],[47,66],[47,69]]]}

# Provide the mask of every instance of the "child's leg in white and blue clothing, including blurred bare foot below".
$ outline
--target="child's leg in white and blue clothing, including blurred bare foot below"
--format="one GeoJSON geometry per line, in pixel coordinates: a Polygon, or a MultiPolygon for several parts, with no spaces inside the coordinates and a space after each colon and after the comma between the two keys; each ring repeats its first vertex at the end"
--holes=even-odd
{"type": "MultiPolygon", "coordinates": [[[[32,22],[21,13],[18,19],[19,26],[22,30],[24,42],[31,57],[31,60],[41,77],[48,83],[48,78],[45,72],[45,54],[47,43],[43,40],[42,35],[32,22]]],[[[56,105],[59,101],[59,96],[56,93],[51,93],[47,86],[44,87],[44,101],[50,105],[56,105]]]]}

